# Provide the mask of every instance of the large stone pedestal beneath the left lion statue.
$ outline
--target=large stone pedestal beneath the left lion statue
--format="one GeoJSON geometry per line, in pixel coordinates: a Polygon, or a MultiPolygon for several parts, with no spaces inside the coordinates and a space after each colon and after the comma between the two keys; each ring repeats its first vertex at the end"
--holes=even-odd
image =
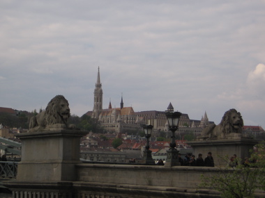
{"type": "Polygon", "coordinates": [[[80,163],[80,138],[86,133],[57,130],[17,134],[17,138],[22,140],[17,180],[75,181],[75,165],[80,163]]]}

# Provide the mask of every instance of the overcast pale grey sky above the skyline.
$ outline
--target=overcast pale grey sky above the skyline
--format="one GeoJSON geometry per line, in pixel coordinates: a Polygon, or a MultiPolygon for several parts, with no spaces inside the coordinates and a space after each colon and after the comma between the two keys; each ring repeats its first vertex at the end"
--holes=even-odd
{"type": "Polygon", "coordinates": [[[265,129],[265,1],[0,1],[0,106],[174,110],[265,129]]]}

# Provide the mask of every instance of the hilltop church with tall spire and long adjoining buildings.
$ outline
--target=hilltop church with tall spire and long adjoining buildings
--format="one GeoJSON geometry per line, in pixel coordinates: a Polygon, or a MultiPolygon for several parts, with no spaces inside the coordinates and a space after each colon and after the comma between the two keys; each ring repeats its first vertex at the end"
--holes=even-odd
{"type": "MultiPolygon", "coordinates": [[[[153,131],[168,131],[167,118],[165,111],[147,110],[135,112],[132,107],[123,106],[123,97],[121,96],[121,105],[119,108],[112,108],[109,101],[108,108],[103,109],[103,89],[100,82],[100,68],[98,67],[98,76],[94,90],[93,111],[86,115],[98,119],[101,126],[107,131],[116,133],[126,133],[128,131],[137,131],[141,129],[140,124],[153,125],[153,131]]],[[[201,120],[190,119],[188,114],[183,113],[179,120],[179,131],[201,132],[208,124],[209,119],[204,113],[201,120]],[[188,128],[188,129],[187,129],[188,128]]]]}

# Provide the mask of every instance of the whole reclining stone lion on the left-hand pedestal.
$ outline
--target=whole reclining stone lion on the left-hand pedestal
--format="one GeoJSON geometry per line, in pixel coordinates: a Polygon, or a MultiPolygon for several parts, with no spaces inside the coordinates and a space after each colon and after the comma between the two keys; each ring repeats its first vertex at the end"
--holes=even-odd
{"type": "Polygon", "coordinates": [[[47,105],[46,109],[38,115],[31,117],[29,131],[43,131],[51,128],[73,128],[68,127],[67,121],[70,117],[68,101],[62,95],[57,95],[47,105]]]}

